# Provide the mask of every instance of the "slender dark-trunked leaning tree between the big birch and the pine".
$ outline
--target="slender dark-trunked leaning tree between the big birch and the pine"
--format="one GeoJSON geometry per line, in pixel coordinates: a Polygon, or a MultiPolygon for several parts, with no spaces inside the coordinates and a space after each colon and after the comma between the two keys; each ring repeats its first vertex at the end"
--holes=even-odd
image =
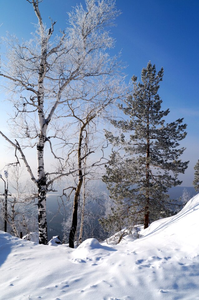
{"type": "Polygon", "coordinates": [[[92,169],[94,171],[94,168],[100,164],[103,164],[102,162],[105,159],[103,152],[104,146],[102,143],[101,153],[99,154],[99,151],[97,151],[97,158],[95,158],[92,164],[90,163],[90,167],[87,168],[87,172],[85,173],[85,171],[82,170],[83,166],[84,168],[88,166],[90,155],[95,153],[97,149],[100,149],[99,143],[96,143],[98,134],[97,123],[101,123],[100,121],[102,121],[104,118],[109,118],[111,105],[114,104],[118,98],[123,98],[124,94],[127,93],[127,88],[125,84],[123,84],[122,77],[117,79],[111,78],[111,80],[106,83],[103,81],[93,85],[87,85],[85,83],[81,91],[79,88],[78,93],[84,95],[85,90],[87,91],[87,99],[85,103],[81,102],[79,107],[76,101],[75,103],[68,103],[68,108],[71,110],[72,117],[75,118],[75,121],[79,124],[79,131],[77,132],[78,142],[73,146],[73,151],[77,153],[74,159],[76,160],[76,168],[79,169],[79,171],[78,183],[75,187],[71,187],[73,190],[75,190],[75,195],[72,226],[69,235],[69,247],[74,247],[74,237],[77,228],[78,199],[80,197],[80,192],[86,173],[91,173],[92,169]]]}

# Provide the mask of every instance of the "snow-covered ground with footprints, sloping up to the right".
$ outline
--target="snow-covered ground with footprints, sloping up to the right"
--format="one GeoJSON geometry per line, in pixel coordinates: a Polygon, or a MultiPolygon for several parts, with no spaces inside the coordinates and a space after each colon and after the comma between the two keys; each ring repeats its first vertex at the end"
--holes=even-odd
{"type": "Polygon", "coordinates": [[[199,299],[199,195],[141,238],[77,249],[0,232],[1,300],[199,299]]]}

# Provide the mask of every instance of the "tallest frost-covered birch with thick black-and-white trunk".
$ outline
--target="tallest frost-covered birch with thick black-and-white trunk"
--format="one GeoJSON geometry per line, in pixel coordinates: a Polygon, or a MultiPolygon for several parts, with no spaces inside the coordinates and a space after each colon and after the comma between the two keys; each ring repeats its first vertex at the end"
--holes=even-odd
{"type": "MultiPolygon", "coordinates": [[[[77,97],[79,86],[95,86],[99,82],[103,86],[119,74],[118,59],[110,57],[106,49],[114,46],[107,28],[114,26],[120,12],[112,0],[86,0],[85,9],[80,5],[69,12],[69,26],[55,35],[56,22],[51,20],[47,28],[42,19],[42,1],[27,2],[32,4],[38,19],[32,39],[20,42],[15,36],[4,38],[8,49],[5,60],[1,59],[0,76],[11,92],[15,114],[10,121],[11,138],[1,131],[0,134],[15,149],[17,162],[21,158],[25,163],[36,185],[39,242],[47,244],[46,193],[54,191],[53,183],[61,177],[76,172],[68,168],[65,152],[59,155],[53,143],[57,140],[62,149],[69,146],[70,124],[63,128],[56,120],[68,110],[67,103],[77,97]],[[47,172],[44,164],[46,144],[59,164],[52,172],[47,172]],[[28,147],[36,148],[37,175],[28,163],[28,147]]],[[[86,101],[86,90],[84,96],[86,101]]]]}

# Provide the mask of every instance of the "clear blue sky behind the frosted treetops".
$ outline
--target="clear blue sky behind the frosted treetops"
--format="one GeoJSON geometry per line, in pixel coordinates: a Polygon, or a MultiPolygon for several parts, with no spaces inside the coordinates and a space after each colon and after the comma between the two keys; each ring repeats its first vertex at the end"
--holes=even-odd
{"type": "MultiPolygon", "coordinates": [[[[50,25],[50,16],[57,20],[55,29],[65,28],[66,12],[76,3],[80,1],[43,0],[40,5],[43,20],[50,25]]],[[[188,125],[187,138],[182,141],[187,150],[182,158],[190,160],[190,166],[180,179],[184,186],[191,186],[193,167],[199,158],[199,1],[116,0],[116,5],[122,15],[116,20],[117,27],[111,28],[116,39],[111,54],[122,50],[122,59],[128,64],[127,81],[133,74],[139,77],[149,60],[156,64],[157,70],[163,66],[164,78],[159,90],[163,108],[170,108],[169,121],[184,117],[188,125]]],[[[35,12],[26,0],[1,1],[0,36],[8,31],[28,39],[35,22],[35,12]]],[[[5,108],[1,103],[1,128],[5,108]]],[[[1,147],[0,154],[3,151],[1,147]]]]}

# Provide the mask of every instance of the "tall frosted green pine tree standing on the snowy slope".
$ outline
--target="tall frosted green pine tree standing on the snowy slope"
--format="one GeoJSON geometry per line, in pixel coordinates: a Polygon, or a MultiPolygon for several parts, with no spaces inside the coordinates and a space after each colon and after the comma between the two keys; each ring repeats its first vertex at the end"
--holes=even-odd
{"type": "MultiPolygon", "coordinates": [[[[163,119],[169,109],[161,110],[158,89],[162,78],[163,68],[156,74],[151,62],[142,70],[141,83],[133,75],[133,94],[119,105],[130,119],[112,122],[120,131],[130,133],[129,142],[124,141],[124,134],[121,143],[121,138],[106,132],[114,147],[121,148],[122,145],[127,157],[112,159],[106,166],[103,180],[115,202],[114,212],[109,218],[114,220],[118,211],[124,212],[128,208],[126,212],[131,211],[131,216],[142,216],[144,228],[148,227],[149,217],[155,220],[171,213],[168,188],[182,183],[177,177],[188,165],[188,161],[179,159],[185,148],[180,148],[178,143],[186,137],[184,130],[187,125],[182,124],[183,118],[172,123],[165,123],[163,119]],[[124,163],[125,172],[120,172],[118,162],[124,163]]],[[[106,220],[103,222],[105,224],[106,220]]]]}

